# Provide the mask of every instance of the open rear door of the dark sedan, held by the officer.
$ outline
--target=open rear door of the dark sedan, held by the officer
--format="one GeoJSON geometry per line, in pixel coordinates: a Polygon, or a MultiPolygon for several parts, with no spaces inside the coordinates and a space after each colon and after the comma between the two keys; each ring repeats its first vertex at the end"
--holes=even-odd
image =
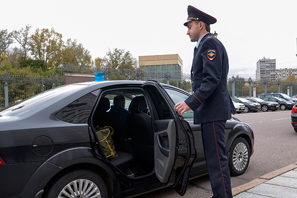
{"type": "Polygon", "coordinates": [[[149,96],[148,106],[154,122],[155,174],[183,196],[196,158],[191,127],[174,110],[174,102],[160,83],[147,81],[143,88],[149,96]]]}

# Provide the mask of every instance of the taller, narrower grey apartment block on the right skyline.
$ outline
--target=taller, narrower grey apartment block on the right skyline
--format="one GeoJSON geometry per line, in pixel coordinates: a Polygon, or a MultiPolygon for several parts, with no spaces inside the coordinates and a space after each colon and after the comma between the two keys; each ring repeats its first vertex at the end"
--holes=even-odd
{"type": "Polygon", "coordinates": [[[276,59],[263,58],[258,60],[256,67],[256,80],[266,78],[276,80],[276,59]]]}

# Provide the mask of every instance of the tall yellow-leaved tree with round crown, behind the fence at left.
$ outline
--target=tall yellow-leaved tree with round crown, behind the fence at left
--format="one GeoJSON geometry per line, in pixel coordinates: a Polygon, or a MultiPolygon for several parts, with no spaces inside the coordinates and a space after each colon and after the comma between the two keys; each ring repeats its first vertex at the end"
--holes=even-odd
{"type": "Polygon", "coordinates": [[[64,47],[62,34],[55,32],[54,28],[36,29],[29,40],[33,57],[44,61],[45,68],[58,66],[62,62],[61,50],[64,47]]]}

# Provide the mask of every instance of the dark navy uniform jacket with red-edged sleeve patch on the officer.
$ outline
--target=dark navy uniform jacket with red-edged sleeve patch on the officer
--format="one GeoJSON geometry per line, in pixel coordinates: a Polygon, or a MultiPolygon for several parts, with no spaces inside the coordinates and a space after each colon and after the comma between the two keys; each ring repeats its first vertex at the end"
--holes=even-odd
{"type": "Polygon", "coordinates": [[[185,100],[194,111],[194,124],[231,119],[235,113],[227,89],[228,55],[211,33],[195,49],[191,68],[192,95],[185,100]]]}

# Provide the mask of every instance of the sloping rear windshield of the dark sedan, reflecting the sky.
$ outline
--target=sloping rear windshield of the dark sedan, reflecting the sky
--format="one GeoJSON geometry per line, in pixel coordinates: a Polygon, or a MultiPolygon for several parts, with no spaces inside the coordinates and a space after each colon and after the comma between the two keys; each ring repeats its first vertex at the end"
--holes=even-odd
{"type": "Polygon", "coordinates": [[[7,108],[0,110],[0,115],[22,117],[33,114],[36,111],[46,108],[67,97],[73,92],[76,92],[77,89],[77,86],[60,86],[58,88],[49,89],[31,98],[22,100],[15,105],[8,106],[7,108]]]}

